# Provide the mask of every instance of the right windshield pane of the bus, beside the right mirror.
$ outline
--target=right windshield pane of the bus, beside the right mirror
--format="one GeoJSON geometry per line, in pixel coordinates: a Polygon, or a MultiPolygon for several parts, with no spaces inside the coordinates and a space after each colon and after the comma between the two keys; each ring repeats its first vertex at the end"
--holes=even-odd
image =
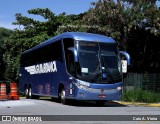
{"type": "Polygon", "coordinates": [[[121,64],[117,45],[100,43],[100,56],[102,73],[107,77],[107,81],[111,83],[122,81],[121,64]]]}

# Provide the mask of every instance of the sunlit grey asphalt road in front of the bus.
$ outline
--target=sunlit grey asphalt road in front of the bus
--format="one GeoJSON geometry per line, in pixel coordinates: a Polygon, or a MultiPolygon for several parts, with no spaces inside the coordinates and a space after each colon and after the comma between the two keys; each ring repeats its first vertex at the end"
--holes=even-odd
{"type": "MultiPolygon", "coordinates": [[[[2,120],[2,115],[11,115],[12,117],[20,117],[19,121],[25,121],[25,119],[31,120],[38,120],[42,122],[38,123],[56,123],[56,124],[106,124],[106,123],[138,123],[138,124],[158,124],[160,122],[158,121],[151,121],[148,120],[148,117],[151,117],[152,119],[160,118],[160,107],[144,107],[144,106],[134,106],[134,105],[123,105],[116,102],[109,102],[106,103],[105,106],[99,107],[96,106],[94,102],[75,102],[72,101],[69,105],[62,105],[58,102],[53,102],[51,99],[40,99],[40,100],[30,100],[30,99],[20,99],[15,101],[0,101],[0,115],[2,120]],[[17,115],[17,116],[16,116],[17,115]],[[28,116],[29,117],[28,117],[28,116]],[[30,116],[35,116],[35,118],[30,118],[30,116]],[[45,119],[57,119],[57,121],[49,122],[44,121],[43,117],[40,115],[48,115],[45,117],[45,119]],[[57,115],[63,115],[63,116],[57,116],[57,115]],[[69,116],[69,119],[65,115],[71,115],[69,116]],[[73,116],[72,116],[73,115],[73,116]],[[76,115],[76,116],[75,116],[76,115]],[[86,115],[92,115],[86,116],[86,115]],[[97,116],[100,115],[100,116],[97,116]],[[120,115],[129,115],[129,116],[120,116],[120,115]],[[142,115],[142,116],[141,116],[142,115]],[[144,115],[146,115],[144,117],[144,115]],[[27,117],[24,117],[27,116],[27,117]],[[87,121],[88,118],[92,121],[87,121]],[[97,118],[109,118],[111,121],[94,121],[97,118]],[[132,117],[133,116],[133,117],[132,117]],[[37,117],[37,118],[36,118],[37,117]],[[67,121],[62,120],[60,121],[61,117],[64,117],[67,121]],[[129,118],[132,118],[130,122],[127,121],[129,118]],[[144,117],[144,118],[143,118],[144,117]],[[73,118],[73,120],[72,120],[73,118]],[[74,119],[81,121],[74,121],[74,119]],[[83,120],[84,118],[84,120],[83,120]],[[112,121],[113,119],[119,119],[124,121],[112,121]],[[144,119],[145,121],[137,121],[138,119],[144,119]],[[83,121],[82,121],[83,120],[83,121]]],[[[15,122],[12,121],[12,123],[21,123],[17,122],[17,118],[12,118],[15,122]]],[[[4,119],[4,118],[3,118],[4,119]]],[[[0,123],[9,123],[8,121],[0,121],[0,123]]],[[[11,122],[10,122],[11,123],[11,122]]],[[[23,122],[24,123],[24,122],[23,122]]],[[[26,122],[28,123],[28,122],[26,122]]],[[[30,122],[35,123],[35,122],[30,122]]]]}

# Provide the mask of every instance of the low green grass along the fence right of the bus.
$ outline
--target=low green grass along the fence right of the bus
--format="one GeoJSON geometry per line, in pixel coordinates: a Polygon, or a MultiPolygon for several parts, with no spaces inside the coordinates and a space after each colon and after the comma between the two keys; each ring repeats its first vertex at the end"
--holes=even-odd
{"type": "Polygon", "coordinates": [[[154,93],[140,88],[126,90],[123,93],[123,100],[128,102],[159,103],[160,93],[154,93]]]}

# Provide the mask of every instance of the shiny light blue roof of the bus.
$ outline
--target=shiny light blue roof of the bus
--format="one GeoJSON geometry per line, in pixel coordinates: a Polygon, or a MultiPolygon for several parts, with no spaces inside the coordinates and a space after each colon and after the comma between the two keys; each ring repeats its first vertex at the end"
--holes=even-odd
{"type": "Polygon", "coordinates": [[[80,41],[92,41],[92,42],[103,42],[103,43],[116,43],[115,40],[111,37],[104,36],[104,35],[99,35],[99,34],[93,34],[93,33],[86,33],[86,32],[65,32],[62,34],[59,34],[53,38],[50,38],[49,40],[46,40],[39,45],[26,50],[24,53],[31,52],[33,50],[39,49],[43,46],[49,45],[51,43],[54,43],[58,39],[63,39],[63,38],[72,38],[75,40],[80,40],[80,41]]]}

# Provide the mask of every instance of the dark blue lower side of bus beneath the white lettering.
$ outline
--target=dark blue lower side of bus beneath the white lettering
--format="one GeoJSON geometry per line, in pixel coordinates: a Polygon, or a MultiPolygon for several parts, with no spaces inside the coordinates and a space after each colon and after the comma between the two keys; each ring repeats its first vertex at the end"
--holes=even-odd
{"type": "Polygon", "coordinates": [[[32,88],[33,95],[57,96],[59,83],[65,83],[68,76],[65,73],[63,62],[55,61],[57,71],[41,74],[30,74],[26,68],[21,68],[20,91],[26,87],[32,88]]]}

